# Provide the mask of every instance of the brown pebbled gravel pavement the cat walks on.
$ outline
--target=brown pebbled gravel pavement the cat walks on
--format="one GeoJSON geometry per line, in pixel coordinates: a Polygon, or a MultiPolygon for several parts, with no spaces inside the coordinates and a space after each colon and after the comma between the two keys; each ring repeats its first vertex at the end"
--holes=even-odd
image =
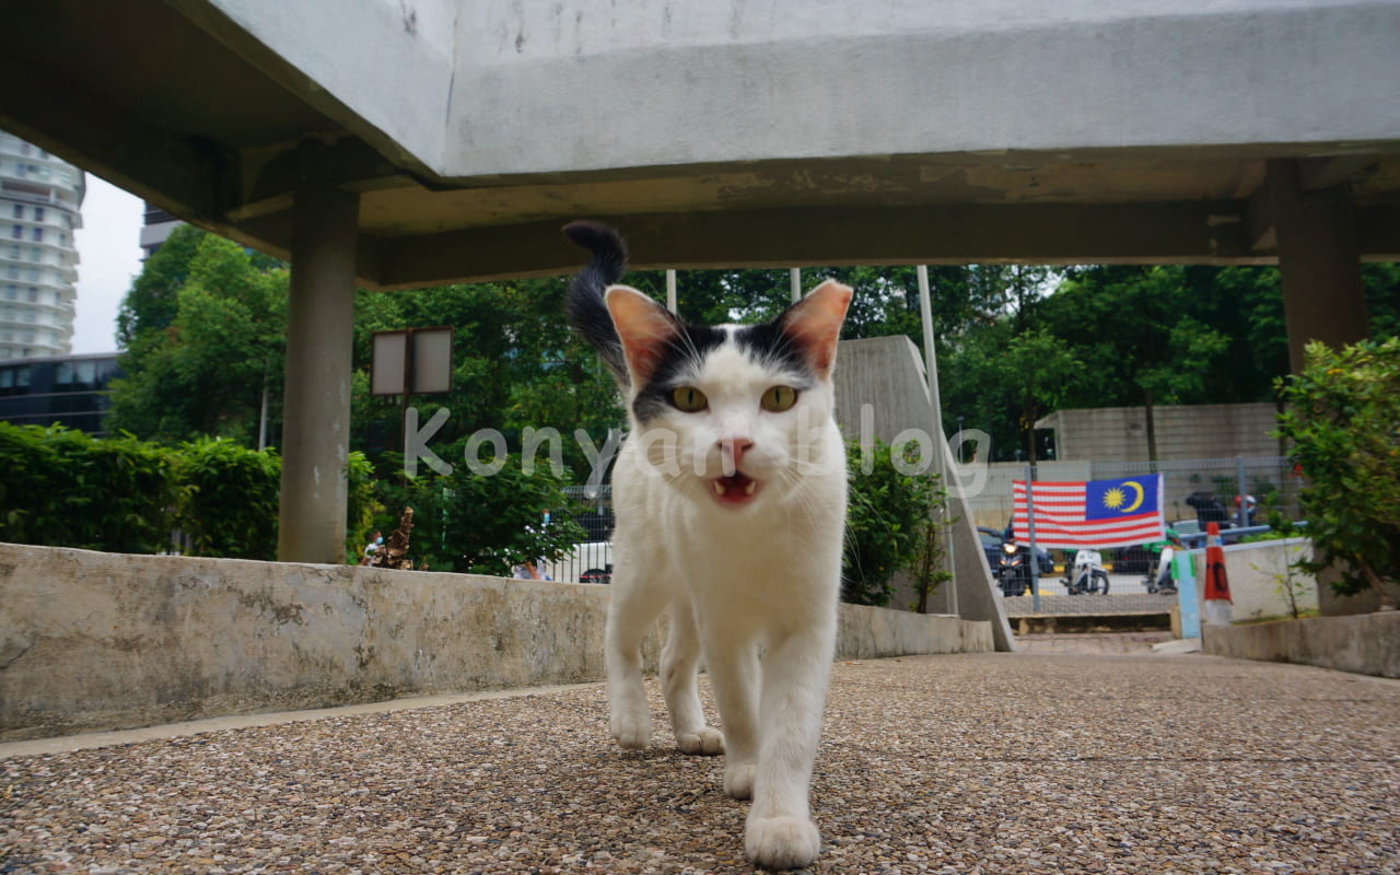
{"type": "MultiPolygon", "coordinates": [[[[809,871],[1400,872],[1400,682],[1154,640],[837,664],[809,871]]],[[[0,745],[0,872],[752,871],[748,804],[648,689],[634,753],[602,685],[0,745]]]]}

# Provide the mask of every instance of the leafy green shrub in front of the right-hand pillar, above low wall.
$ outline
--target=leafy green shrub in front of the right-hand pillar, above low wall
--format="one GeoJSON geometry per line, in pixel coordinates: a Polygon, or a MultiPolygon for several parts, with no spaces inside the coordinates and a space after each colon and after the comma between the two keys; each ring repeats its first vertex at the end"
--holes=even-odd
{"type": "Polygon", "coordinates": [[[1400,339],[1341,350],[1306,347],[1302,374],[1281,382],[1287,438],[1308,480],[1302,500],[1315,560],[1336,567],[1337,592],[1400,581],[1400,339]]]}

